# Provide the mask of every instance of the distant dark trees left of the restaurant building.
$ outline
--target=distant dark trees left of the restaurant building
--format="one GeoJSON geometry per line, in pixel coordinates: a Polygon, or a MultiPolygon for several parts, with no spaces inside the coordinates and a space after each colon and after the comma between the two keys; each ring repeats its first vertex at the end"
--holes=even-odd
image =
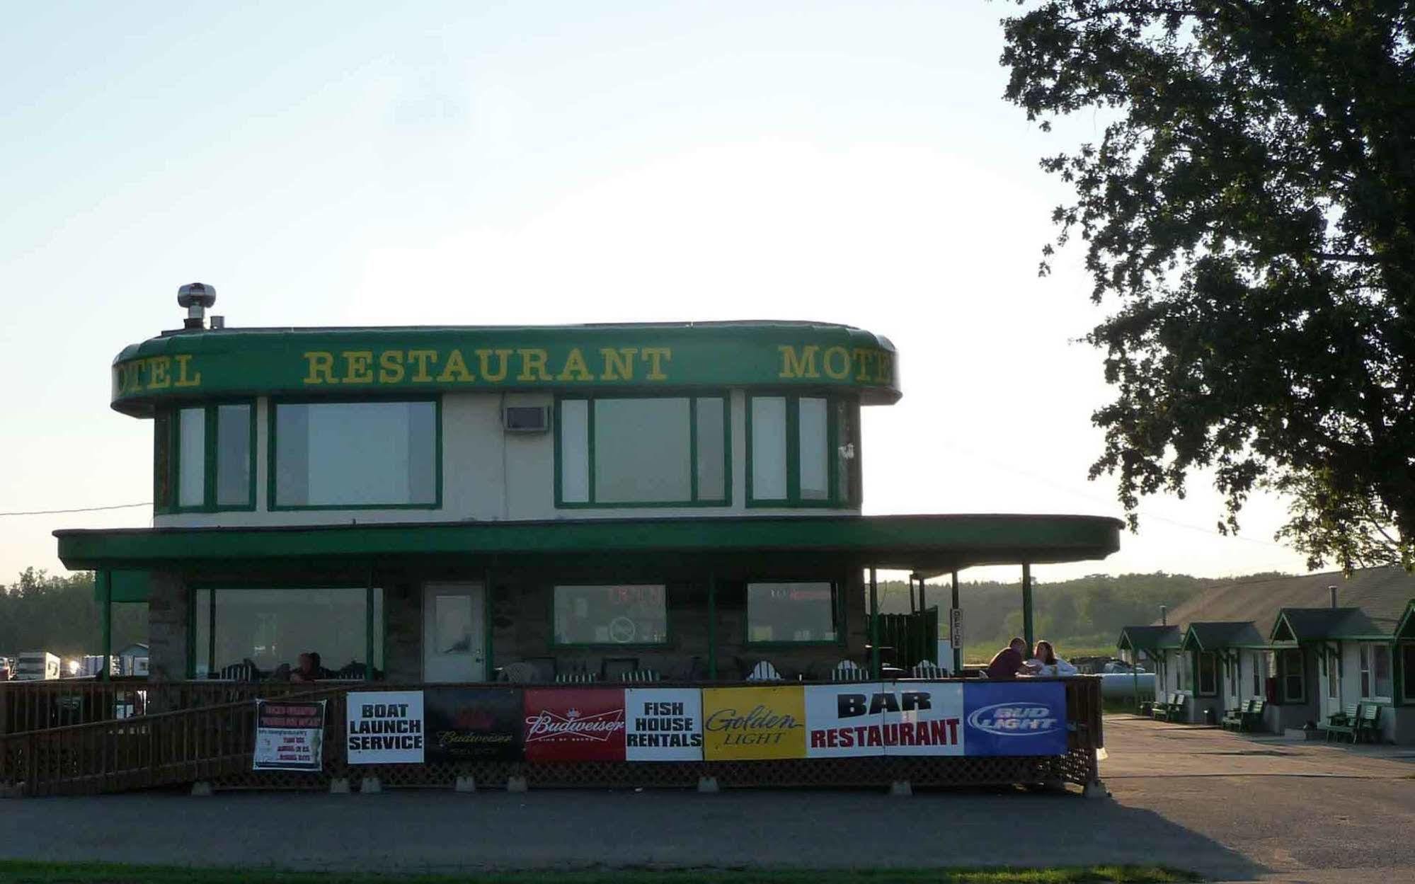
{"type": "MultiPolygon", "coordinates": [[[[113,651],[147,641],[147,605],[113,605],[113,651]]],[[[0,656],[48,651],[59,656],[99,653],[103,636],[93,598],[93,571],[48,574],[25,569],[0,586],[0,656]]]]}

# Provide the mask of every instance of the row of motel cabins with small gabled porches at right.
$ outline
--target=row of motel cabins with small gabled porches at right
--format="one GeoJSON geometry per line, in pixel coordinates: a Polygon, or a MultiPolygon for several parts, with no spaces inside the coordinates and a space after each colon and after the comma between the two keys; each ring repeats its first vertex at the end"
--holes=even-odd
{"type": "Polygon", "coordinates": [[[1399,567],[1220,584],[1126,627],[1116,645],[1156,662],[1156,697],[1184,697],[1177,720],[1215,723],[1265,700],[1262,730],[1317,727],[1377,706],[1384,743],[1415,744],[1415,577],[1399,567]]]}

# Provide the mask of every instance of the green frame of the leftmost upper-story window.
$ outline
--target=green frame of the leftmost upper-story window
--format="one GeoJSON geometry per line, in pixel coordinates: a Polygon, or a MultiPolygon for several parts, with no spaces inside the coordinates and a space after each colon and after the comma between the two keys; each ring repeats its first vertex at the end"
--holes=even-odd
{"type": "Polygon", "coordinates": [[[256,403],[252,399],[222,399],[175,406],[157,414],[153,424],[153,509],[175,512],[232,512],[256,508],[256,403]],[[246,495],[239,502],[219,499],[221,410],[239,406],[246,417],[246,495]],[[181,502],[183,412],[200,412],[202,427],[201,502],[181,502]]]}

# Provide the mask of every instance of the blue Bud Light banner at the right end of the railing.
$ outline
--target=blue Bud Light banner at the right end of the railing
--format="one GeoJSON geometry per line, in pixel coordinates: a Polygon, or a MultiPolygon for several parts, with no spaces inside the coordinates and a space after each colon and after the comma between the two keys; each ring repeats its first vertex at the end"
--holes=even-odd
{"type": "Polygon", "coordinates": [[[968,682],[964,741],[969,755],[1064,755],[1065,686],[1026,679],[968,682]]]}

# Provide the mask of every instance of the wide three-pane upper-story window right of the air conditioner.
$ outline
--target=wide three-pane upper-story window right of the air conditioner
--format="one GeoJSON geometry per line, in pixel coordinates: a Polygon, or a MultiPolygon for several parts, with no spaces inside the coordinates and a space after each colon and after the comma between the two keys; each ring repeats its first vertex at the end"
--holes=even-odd
{"type": "Polygon", "coordinates": [[[558,506],[722,506],[730,499],[726,396],[560,399],[558,506]]]}

